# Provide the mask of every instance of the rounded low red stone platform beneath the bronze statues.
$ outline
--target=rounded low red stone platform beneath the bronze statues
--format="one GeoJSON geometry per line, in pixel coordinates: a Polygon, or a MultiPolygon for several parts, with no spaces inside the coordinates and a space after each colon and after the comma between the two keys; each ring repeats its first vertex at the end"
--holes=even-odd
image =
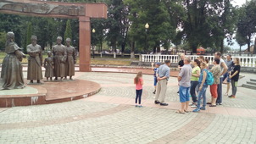
{"type": "Polygon", "coordinates": [[[45,82],[24,89],[0,91],[0,108],[69,102],[92,96],[101,86],[89,80],[45,82]]]}

